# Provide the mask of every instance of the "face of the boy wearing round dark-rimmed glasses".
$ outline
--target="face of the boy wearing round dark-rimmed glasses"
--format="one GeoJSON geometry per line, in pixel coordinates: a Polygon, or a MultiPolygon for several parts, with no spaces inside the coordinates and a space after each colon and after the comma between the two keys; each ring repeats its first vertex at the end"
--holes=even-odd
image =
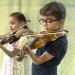
{"type": "Polygon", "coordinates": [[[63,21],[57,20],[55,16],[41,16],[39,22],[43,25],[46,32],[57,31],[63,25],[63,21]]]}

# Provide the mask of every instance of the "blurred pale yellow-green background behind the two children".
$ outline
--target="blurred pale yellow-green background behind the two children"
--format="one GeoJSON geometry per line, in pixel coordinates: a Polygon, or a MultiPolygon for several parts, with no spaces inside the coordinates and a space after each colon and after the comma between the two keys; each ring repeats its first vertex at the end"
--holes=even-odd
{"type": "MultiPolygon", "coordinates": [[[[40,31],[39,9],[53,0],[0,0],[0,35],[9,32],[8,16],[10,13],[22,12],[31,22],[28,27],[33,31],[40,31]]],[[[57,0],[66,7],[66,20],[64,28],[68,33],[68,50],[65,58],[58,66],[58,75],[75,75],[75,0],[57,0]]],[[[0,70],[4,52],[0,49],[0,70]]],[[[31,59],[25,59],[25,75],[31,75],[31,59]]]]}

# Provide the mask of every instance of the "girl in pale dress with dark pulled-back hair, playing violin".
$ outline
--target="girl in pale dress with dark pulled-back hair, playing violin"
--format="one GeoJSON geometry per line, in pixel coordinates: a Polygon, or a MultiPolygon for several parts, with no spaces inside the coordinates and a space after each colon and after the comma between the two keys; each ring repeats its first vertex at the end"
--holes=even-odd
{"type": "MultiPolygon", "coordinates": [[[[26,22],[25,16],[20,12],[14,12],[9,15],[9,26],[11,31],[15,31],[26,22]]],[[[24,75],[24,62],[16,60],[19,50],[26,42],[26,38],[20,38],[27,26],[14,33],[13,41],[9,41],[7,48],[0,44],[0,48],[5,52],[3,59],[3,67],[0,75],[24,75]]],[[[6,37],[4,40],[9,39],[6,37]]]]}

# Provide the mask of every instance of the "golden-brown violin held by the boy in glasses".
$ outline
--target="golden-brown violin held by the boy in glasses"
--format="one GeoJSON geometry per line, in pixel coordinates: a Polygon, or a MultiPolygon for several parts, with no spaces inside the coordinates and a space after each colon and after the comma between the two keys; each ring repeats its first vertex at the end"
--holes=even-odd
{"type": "MultiPolygon", "coordinates": [[[[31,41],[28,45],[31,49],[41,48],[46,45],[49,41],[55,41],[61,36],[67,34],[68,31],[63,30],[59,32],[51,32],[51,33],[41,33],[36,35],[29,35],[29,36],[38,36],[33,41],[31,41]]],[[[19,56],[17,58],[18,61],[22,61],[25,55],[25,51],[21,50],[19,56]]]]}

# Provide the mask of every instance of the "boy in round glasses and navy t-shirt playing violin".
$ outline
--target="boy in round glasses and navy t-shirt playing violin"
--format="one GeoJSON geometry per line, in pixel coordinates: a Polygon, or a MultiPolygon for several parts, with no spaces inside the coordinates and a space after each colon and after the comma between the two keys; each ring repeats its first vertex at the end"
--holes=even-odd
{"type": "MultiPolygon", "coordinates": [[[[40,24],[46,33],[51,31],[62,31],[64,27],[66,9],[57,1],[52,1],[40,9],[40,24]]],[[[67,52],[68,41],[66,35],[58,37],[54,41],[47,42],[43,47],[37,49],[36,54],[26,44],[22,50],[27,51],[32,63],[32,75],[57,75],[57,66],[60,64],[67,52]]]]}

